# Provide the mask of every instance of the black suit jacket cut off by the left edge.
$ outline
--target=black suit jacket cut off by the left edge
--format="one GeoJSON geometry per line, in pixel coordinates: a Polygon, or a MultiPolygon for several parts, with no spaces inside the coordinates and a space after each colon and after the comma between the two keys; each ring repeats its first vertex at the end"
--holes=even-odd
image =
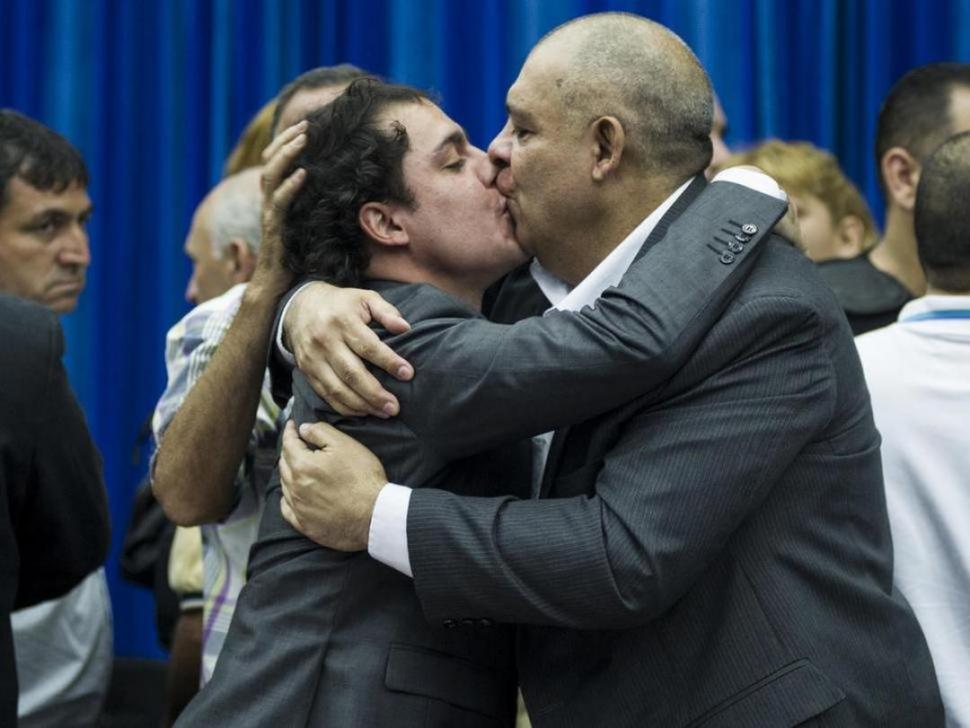
{"type": "Polygon", "coordinates": [[[61,365],[57,317],[0,295],[0,725],[17,721],[10,612],[67,593],[108,554],[101,458],[61,365]]]}

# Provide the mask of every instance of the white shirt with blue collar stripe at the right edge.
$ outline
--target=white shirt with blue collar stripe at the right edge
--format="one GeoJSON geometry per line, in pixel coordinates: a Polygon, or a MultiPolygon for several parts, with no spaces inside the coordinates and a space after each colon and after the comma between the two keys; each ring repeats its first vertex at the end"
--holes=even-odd
{"type": "Polygon", "coordinates": [[[970,296],[924,296],[856,339],[882,435],[893,576],[970,726],[970,296]]]}

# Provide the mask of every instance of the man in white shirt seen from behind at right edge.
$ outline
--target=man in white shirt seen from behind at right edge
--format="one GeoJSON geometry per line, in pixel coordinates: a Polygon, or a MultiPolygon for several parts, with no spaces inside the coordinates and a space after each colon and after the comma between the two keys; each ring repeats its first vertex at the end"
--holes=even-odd
{"type": "Polygon", "coordinates": [[[914,207],[926,295],[856,339],[882,434],[894,576],[926,634],[947,725],[970,725],[970,132],[926,160],[914,207]]]}

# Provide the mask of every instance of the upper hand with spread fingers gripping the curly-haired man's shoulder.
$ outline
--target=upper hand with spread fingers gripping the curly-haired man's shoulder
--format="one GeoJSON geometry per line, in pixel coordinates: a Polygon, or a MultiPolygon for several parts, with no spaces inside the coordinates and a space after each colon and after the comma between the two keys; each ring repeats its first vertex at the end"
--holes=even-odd
{"type": "Polygon", "coordinates": [[[391,333],[411,327],[377,293],[314,282],[290,302],[283,337],[313,390],[342,415],[392,417],[397,398],[367,371],[364,362],[407,381],[414,370],[384,344],[368,324],[391,333]]]}

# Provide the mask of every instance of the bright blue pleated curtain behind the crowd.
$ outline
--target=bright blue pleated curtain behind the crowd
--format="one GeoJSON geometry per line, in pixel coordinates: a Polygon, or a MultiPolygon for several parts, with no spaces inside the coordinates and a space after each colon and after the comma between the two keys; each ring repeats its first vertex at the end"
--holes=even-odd
{"type": "Polygon", "coordinates": [[[826,147],[877,216],[883,95],[913,66],[970,61],[970,0],[0,0],[0,106],[57,129],[90,165],[94,262],[64,325],[111,494],[119,654],[157,653],[149,596],[117,577],[145,469],[135,438],[165,383],[165,331],[187,310],[192,210],[249,117],[300,71],[350,62],[436,90],[485,145],[535,41],[602,10],[659,20],[694,48],[729,143],[826,147]]]}

